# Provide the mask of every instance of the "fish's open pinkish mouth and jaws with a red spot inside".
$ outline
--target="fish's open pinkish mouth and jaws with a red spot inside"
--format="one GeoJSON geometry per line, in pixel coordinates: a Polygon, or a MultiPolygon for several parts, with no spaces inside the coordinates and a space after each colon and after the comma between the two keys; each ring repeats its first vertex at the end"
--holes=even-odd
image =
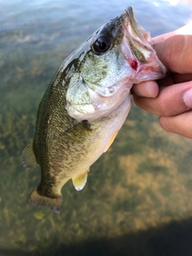
{"type": "Polygon", "coordinates": [[[123,37],[119,47],[133,70],[131,82],[164,78],[166,66],[158,59],[150,33],[134,17],[132,6],[127,7],[122,14],[122,31],[123,37]]]}

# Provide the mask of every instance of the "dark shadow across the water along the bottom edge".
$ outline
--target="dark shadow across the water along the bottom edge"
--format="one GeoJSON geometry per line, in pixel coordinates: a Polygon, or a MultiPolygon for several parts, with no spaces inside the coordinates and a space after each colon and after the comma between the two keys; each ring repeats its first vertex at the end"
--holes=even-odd
{"type": "Polygon", "coordinates": [[[1,256],[42,256],[42,255],[130,255],[130,256],[191,256],[192,219],[151,228],[146,231],[125,234],[118,238],[101,238],[74,245],[52,246],[46,250],[24,252],[21,250],[0,249],[1,256]]]}

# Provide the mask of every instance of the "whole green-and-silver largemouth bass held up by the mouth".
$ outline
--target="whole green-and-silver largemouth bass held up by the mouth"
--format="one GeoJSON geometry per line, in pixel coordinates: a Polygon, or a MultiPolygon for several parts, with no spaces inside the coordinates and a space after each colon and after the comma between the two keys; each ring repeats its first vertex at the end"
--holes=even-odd
{"type": "Polygon", "coordinates": [[[41,167],[29,202],[58,213],[62,186],[71,179],[82,190],[90,166],[114,142],[130,111],[134,83],[165,75],[132,6],[74,50],[42,97],[34,139],[22,151],[26,169],[41,167]]]}

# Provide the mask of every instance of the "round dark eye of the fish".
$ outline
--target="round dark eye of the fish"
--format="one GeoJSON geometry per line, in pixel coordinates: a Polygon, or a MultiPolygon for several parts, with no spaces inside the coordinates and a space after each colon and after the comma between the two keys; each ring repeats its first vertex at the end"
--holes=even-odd
{"type": "Polygon", "coordinates": [[[101,54],[106,52],[106,50],[109,50],[111,45],[112,42],[110,38],[106,38],[106,36],[101,35],[95,40],[92,48],[96,54],[101,54]]]}

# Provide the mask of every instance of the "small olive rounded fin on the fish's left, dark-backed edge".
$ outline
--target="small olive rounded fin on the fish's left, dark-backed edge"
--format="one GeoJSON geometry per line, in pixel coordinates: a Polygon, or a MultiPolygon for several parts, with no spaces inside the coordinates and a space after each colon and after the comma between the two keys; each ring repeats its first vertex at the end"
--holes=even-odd
{"type": "Polygon", "coordinates": [[[26,146],[26,148],[22,151],[21,160],[22,166],[26,169],[38,166],[38,162],[34,155],[33,142],[31,142],[30,145],[26,146]]]}

